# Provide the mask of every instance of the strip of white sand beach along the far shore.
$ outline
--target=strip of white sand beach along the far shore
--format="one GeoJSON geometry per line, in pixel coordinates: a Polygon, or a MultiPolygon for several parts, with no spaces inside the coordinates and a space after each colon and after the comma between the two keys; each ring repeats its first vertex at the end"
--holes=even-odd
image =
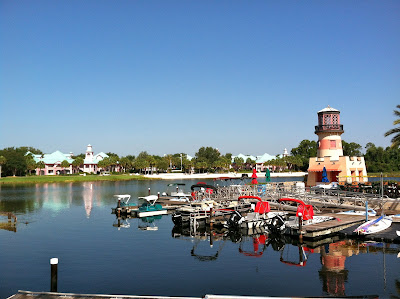
{"type": "MultiPolygon", "coordinates": [[[[271,172],[271,177],[304,177],[306,172],[271,172]]],[[[251,177],[252,173],[247,173],[251,177]]],[[[160,174],[148,174],[145,175],[147,178],[162,179],[162,180],[190,180],[190,179],[214,179],[220,177],[229,178],[241,178],[242,173],[195,173],[195,174],[185,174],[185,173],[160,173],[160,174]]],[[[265,173],[257,173],[258,178],[265,177],[265,173]]]]}

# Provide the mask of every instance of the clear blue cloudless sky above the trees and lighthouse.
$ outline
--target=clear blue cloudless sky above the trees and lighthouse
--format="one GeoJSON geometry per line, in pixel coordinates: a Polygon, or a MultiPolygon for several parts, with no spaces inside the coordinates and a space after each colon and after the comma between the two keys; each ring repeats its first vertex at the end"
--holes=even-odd
{"type": "Polygon", "coordinates": [[[0,148],[275,155],[388,146],[400,1],[0,1],[0,148]]]}

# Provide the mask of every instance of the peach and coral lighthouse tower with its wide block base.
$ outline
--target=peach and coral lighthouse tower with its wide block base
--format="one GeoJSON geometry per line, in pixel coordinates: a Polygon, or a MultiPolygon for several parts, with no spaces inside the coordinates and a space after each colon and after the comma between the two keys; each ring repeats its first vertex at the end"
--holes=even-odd
{"type": "Polygon", "coordinates": [[[322,183],[324,167],[329,182],[368,181],[364,157],[343,156],[343,133],[339,110],[328,106],[318,111],[318,125],[315,126],[315,134],[318,135],[317,157],[310,158],[308,186],[322,183]]]}

